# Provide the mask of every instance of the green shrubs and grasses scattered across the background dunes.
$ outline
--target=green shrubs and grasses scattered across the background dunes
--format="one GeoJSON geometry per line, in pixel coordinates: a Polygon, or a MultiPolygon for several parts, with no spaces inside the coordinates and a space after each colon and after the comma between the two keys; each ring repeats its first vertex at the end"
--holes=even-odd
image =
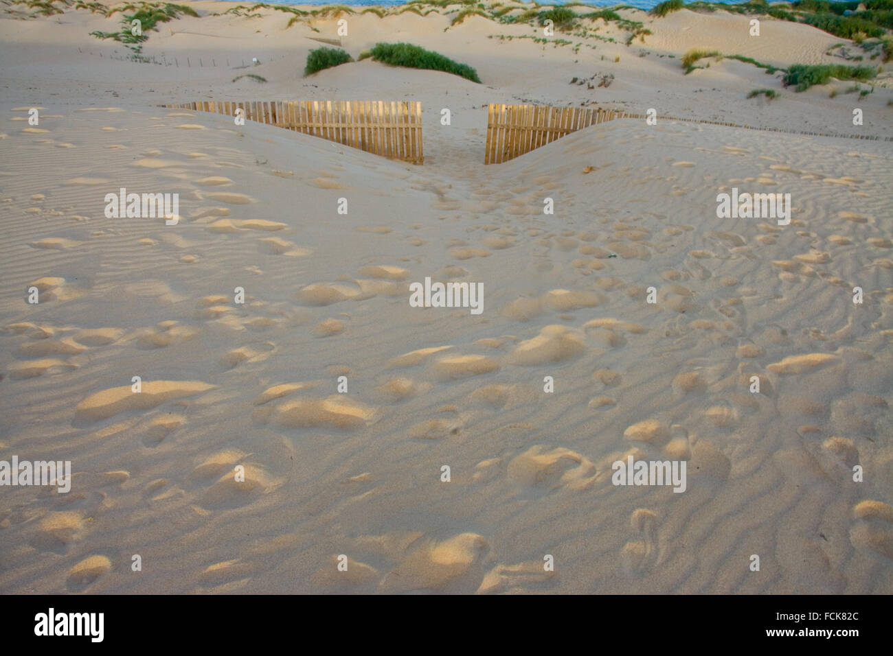
{"type": "MultiPolygon", "coordinates": [[[[830,34],[851,39],[862,46],[864,51],[861,54],[854,54],[850,44],[839,44],[838,46],[832,46],[826,52],[827,55],[839,56],[850,62],[859,62],[864,59],[871,59],[872,61],[882,59],[883,62],[893,60],[893,37],[889,33],[890,30],[893,30],[893,0],[864,0],[864,6],[866,7],[864,11],[859,11],[859,0],[847,0],[846,2],[837,2],[835,0],[793,0],[789,4],[774,5],[770,5],[767,0],[748,0],[740,4],[724,4],[710,2],[709,0],[697,0],[690,4],[684,4],[684,2],[685,0],[663,0],[663,2],[656,4],[648,13],[653,17],[663,17],[671,12],[677,12],[685,8],[693,12],[715,12],[720,10],[745,15],[769,16],[779,21],[804,23],[830,34]],[[839,51],[831,52],[838,47],[839,51]]],[[[66,8],[70,7],[75,10],[97,12],[107,16],[121,13],[122,26],[120,31],[95,31],[91,32],[91,34],[99,38],[112,38],[120,41],[134,50],[134,52],[138,52],[138,45],[146,41],[148,37],[147,32],[157,29],[157,23],[171,21],[183,15],[198,16],[198,13],[189,5],[165,2],[141,1],[107,6],[95,0],[20,0],[20,2],[13,2],[13,4],[27,4],[32,10],[35,10],[35,13],[32,15],[53,15],[54,13],[62,13],[66,8]],[[135,20],[140,21],[142,29],[142,34],[140,35],[132,33],[131,21],[135,20]]],[[[517,0],[486,3],[478,2],[477,0],[412,0],[406,4],[388,7],[352,8],[344,4],[327,4],[309,10],[299,9],[294,5],[238,4],[230,7],[223,13],[255,18],[269,15],[268,13],[257,12],[257,10],[287,12],[291,14],[287,28],[296,23],[301,23],[314,32],[320,32],[320,29],[313,25],[314,21],[333,20],[342,14],[361,15],[372,13],[380,18],[387,18],[388,16],[399,15],[405,12],[413,12],[419,16],[427,16],[431,12],[436,12],[450,17],[450,25],[447,29],[463,24],[463,21],[472,16],[480,16],[488,21],[502,24],[526,24],[531,27],[543,27],[547,24],[547,21],[552,21],[555,29],[563,32],[568,38],[598,39],[610,43],[625,42],[627,46],[631,46],[633,41],[638,38],[644,43],[645,37],[650,35],[651,31],[644,27],[643,22],[632,21],[623,17],[619,12],[624,9],[634,9],[634,7],[630,5],[615,5],[611,8],[597,9],[591,4],[580,2],[562,5],[540,4],[538,2],[520,4],[517,0]],[[610,36],[604,33],[599,34],[598,32],[602,29],[603,24],[611,24],[616,29],[626,32],[625,41],[623,38],[616,37],[616,34],[610,36]]],[[[221,14],[214,13],[212,15],[221,14]]],[[[500,38],[505,39],[505,37],[500,38]]],[[[553,43],[553,41],[547,41],[547,39],[533,38],[533,40],[543,44],[547,42],[553,43]]],[[[572,42],[565,41],[565,39],[556,39],[555,43],[556,45],[570,45],[572,42]]],[[[375,56],[374,54],[368,56],[375,56],[377,61],[394,63],[394,65],[446,71],[478,81],[477,73],[470,67],[452,62],[442,55],[429,53],[421,48],[418,48],[421,52],[412,50],[412,48],[417,48],[418,46],[409,46],[407,44],[382,46],[388,46],[391,50],[388,52],[380,51],[380,56],[375,56]],[[410,48],[410,50],[406,50],[406,48],[410,48]],[[400,60],[400,62],[386,60],[400,60]]],[[[575,54],[579,53],[581,46],[596,47],[585,40],[578,40],[573,43],[573,52],[575,54]]],[[[344,59],[345,56],[349,57],[349,55],[342,54],[338,56],[341,57],[340,60],[338,58],[333,60],[321,59],[320,64],[325,64],[322,68],[351,61],[344,59]]],[[[643,55],[640,53],[639,56],[643,55]]],[[[669,56],[672,57],[673,55],[669,56]]],[[[763,68],[767,73],[774,73],[778,70],[783,71],[783,69],[778,69],[771,64],[757,62],[743,55],[722,55],[716,52],[697,50],[690,51],[682,58],[683,68],[686,73],[689,73],[695,68],[699,68],[697,66],[699,59],[722,56],[753,64],[763,68]]],[[[709,64],[706,65],[709,66],[709,64]]],[[[315,64],[312,68],[314,69],[313,72],[321,70],[321,68],[315,68],[315,64]]]]}

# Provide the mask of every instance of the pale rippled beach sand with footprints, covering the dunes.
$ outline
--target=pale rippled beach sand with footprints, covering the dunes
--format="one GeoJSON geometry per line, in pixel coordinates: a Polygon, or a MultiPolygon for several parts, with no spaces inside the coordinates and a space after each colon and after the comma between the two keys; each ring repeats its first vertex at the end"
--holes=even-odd
{"type": "Polygon", "coordinates": [[[482,163],[490,102],[893,135],[889,89],[859,128],[855,95],[766,104],[753,66],[680,69],[841,39],[624,12],[644,45],[573,54],[366,14],[352,54],[410,40],[483,84],[304,79],[335,20],[262,13],[163,24],[144,54],[179,67],[110,58],[95,14],[0,21],[0,460],[74,472],[68,494],[0,488],[0,592],[893,592],[889,142],[615,120],[482,163]],[[279,98],[421,100],[425,163],[156,106],[279,98]],[[179,193],[177,225],[106,218],[120,187],[179,193]],[[789,225],[717,218],[732,187],[789,193],[789,225]],[[483,283],[483,312],[411,307],[426,277],[483,283]],[[686,461],[686,491],[613,485],[630,454],[686,461]]]}

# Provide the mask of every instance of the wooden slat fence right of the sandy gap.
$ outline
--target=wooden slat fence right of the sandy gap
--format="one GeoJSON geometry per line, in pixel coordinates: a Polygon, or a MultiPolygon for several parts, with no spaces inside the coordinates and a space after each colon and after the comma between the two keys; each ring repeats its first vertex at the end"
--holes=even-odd
{"type": "Polygon", "coordinates": [[[580,107],[490,104],[484,163],[506,162],[578,129],[627,116],[625,112],[580,107]]]}

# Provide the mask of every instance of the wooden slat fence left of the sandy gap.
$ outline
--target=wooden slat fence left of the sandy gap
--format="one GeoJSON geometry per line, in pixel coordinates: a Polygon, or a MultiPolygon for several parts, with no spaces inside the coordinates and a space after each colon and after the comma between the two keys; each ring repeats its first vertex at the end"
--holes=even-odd
{"type": "Polygon", "coordinates": [[[384,101],[272,101],[165,104],[163,107],[235,116],[291,129],[391,160],[421,164],[421,103],[384,101]]]}

